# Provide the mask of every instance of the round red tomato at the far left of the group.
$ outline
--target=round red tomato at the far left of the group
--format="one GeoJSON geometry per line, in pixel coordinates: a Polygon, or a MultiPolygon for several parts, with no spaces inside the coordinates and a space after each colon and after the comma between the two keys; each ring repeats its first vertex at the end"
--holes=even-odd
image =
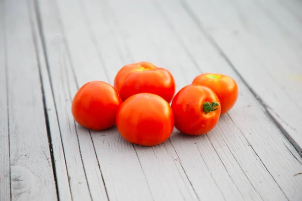
{"type": "Polygon", "coordinates": [[[92,130],[103,130],[114,126],[121,103],[113,86],[103,81],[91,81],[74,95],[71,112],[78,124],[92,130]]]}

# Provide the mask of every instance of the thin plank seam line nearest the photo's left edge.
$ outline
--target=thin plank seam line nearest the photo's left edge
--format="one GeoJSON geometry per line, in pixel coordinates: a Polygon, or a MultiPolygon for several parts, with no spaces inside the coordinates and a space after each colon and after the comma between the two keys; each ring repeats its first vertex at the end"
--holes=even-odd
{"type": "Polygon", "coordinates": [[[10,179],[10,200],[12,200],[12,171],[11,171],[11,135],[10,135],[10,108],[9,108],[9,70],[8,70],[8,46],[6,40],[6,2],[4,1],[4,18],[3,22],[3,45],[4,45],[4,66],[5,66],[5,82],[6,82],[6,99],[7,99],[7,118],[8,118],[8,135],[9,135],[9,179],[10,179]]]}

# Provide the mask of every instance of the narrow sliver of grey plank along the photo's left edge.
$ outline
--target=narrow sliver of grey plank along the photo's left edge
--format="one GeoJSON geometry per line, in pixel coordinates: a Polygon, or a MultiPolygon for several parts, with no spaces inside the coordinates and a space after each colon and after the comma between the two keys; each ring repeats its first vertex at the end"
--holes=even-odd
{"type": "Polygon", "coordinates": [[[11,200],[10,138],[6,84],[5,4],[0,2],[0,200],[11,200]]]}

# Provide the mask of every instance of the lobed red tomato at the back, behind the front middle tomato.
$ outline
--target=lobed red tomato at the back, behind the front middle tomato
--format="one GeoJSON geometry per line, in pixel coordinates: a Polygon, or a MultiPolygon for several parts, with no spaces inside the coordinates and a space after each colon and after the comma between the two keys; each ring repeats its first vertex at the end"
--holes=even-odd
{"type": "Polygon", "coordinates": [[[136,93],[154,93],[171,102],[175,93],[172,74],[149,62],[138,62],[123,66],[116,74],[114,87],[122,100],[136,93]]]}

